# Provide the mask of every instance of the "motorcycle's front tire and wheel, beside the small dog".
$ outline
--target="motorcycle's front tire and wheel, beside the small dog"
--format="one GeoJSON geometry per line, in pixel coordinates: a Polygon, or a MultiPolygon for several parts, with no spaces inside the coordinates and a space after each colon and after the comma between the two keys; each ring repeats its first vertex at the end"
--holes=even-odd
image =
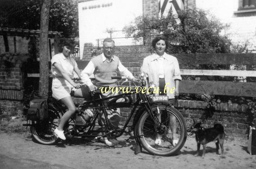
{"type": "Polygon", "coordinates": [[[147,110],[144,110],[137,122],[137,133],[141,145],[147,152],[152,155],[171,156],[177,154],[177,152],[180,151],[180,149],[185,144],[187,136],[186,123],[183,115],[174,107],[171,107],[169,105],[166,106],[166,103],[152,105],[151,109],[155,116],[157,116],[157,113],[161,112],[161,124],[163,124],[162,126],[165,127],[163,127],[164,132],[160,133],[161,144],[155,144],[155,139],[159,131],[156,131],[155,129],[155,126],[157,125],[154,124],[151,115],[148,113],[147,110]],[[171,129],[171,127],[168,127],[168,124],[170,122],[166,120],[168,117],[170,117],[170,115],[176,118],[176,134],[178,137],[178,142],[175,146],[172,145],[172,139],[170,138],[169,129],[171,129]]]}

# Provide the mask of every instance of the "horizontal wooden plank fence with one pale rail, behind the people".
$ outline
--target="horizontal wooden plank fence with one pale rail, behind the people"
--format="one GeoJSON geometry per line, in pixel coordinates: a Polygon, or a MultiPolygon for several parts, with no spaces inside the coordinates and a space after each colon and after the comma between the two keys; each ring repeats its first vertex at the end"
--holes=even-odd
{"type": "MultiPolygon", "coordinates": [[[[174,54],[180,65],[256,65],[256,54],[174,54]]],[[[77,61],[84,68],[88,61],[77,61]]],[[[256,77],[254,70],[180,70],[181,75],[256,77]]],[[[30,77],[39,76],[29,74],[30,77]]],[[[256,97],[256,82],[182,80],[181,93],[256,97]]]]}

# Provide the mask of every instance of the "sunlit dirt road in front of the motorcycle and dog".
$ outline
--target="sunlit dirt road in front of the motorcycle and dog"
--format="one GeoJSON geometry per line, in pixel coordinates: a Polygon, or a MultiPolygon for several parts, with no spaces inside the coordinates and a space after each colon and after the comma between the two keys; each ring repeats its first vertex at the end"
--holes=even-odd
{"type": "Polygon", "coordinates": [[[114,148],[81,138],[46,146],[35,143],[30,133],[0,133],[0,169],[256,168],[256,155],[247,153],[246,138],[228,138],[224,158],[215,154],[215,143],[207,144],[204,159],[194,156],[195,138],[187,138],[178,155],[172,157],[149,155],[145,151],[134,155],[134,140],[126,141],[127,138],[119,138],[120,145],[114,148]]]}

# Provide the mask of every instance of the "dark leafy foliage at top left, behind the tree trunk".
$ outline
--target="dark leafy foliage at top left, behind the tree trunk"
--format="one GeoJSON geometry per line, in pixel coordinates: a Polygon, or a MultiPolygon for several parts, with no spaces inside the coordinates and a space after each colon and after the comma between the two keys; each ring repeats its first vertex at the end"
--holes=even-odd
{"type": "MultiPolygon", "coordinates": [[[[40,29],[41,0],[2,0],[0,27],[40,29]]],[[[61,31],[64,37],[78,37],[78,1],[52,0],[49,31],[61,31]]]]}

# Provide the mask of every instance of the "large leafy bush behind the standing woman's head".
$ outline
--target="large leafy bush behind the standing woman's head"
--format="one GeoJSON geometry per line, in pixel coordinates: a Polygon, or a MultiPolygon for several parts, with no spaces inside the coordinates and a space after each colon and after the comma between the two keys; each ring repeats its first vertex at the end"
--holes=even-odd
{"type": "Polygon", "coordinates": [[[137,40],[162,34],[169,41],[167,53],[170,54],[229,53],[230,39],[221,34],[227,27],[206,11],[186,10],[178,11],[178,16],[137,17],[134,24],[123,31],[137,40]]]}

